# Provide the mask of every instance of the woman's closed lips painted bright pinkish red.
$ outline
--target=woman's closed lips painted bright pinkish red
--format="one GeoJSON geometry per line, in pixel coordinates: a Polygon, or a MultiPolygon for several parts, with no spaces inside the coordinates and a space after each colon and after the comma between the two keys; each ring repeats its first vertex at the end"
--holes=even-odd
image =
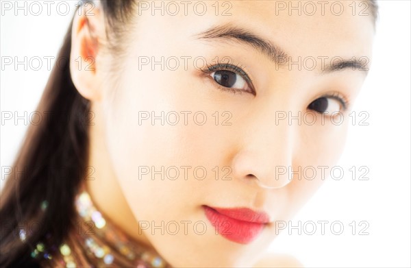
{"type": "Polygon", "coordinates": [[[251,243],[270,222],[265,212],[256,212],[250,208],[203,208],[216,234],[236,243],[251,243]]]}

